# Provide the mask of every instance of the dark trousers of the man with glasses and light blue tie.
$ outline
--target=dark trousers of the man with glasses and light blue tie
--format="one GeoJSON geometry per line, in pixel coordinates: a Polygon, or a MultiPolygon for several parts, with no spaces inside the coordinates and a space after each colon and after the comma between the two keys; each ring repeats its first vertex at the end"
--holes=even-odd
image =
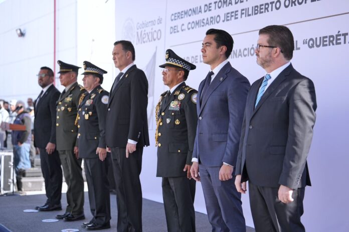
{"type": "Polygon", "coordinates": [[[293,201],[285,204],[278,199],[279,188],[261,187],[251,181],[248,186],[256,232],[305,231],[300,221],[303,214],[304,187],[294,190],[293,201]]]}

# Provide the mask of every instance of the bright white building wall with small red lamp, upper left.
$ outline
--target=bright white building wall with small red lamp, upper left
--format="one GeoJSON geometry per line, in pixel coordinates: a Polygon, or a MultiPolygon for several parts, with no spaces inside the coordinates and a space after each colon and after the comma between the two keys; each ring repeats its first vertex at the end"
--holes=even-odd
{"type": "MultiPolygon", "coordinates": [[[[56,7],[56,61],[76,63],[77,2],[57,0],[56,7]]],[[[0,3],[0,21],[0,98],[35,99],[40,67],[54,67],[54,1],[6,0],[0,3]],[[24,37],[17,36],[17,28],[26,31],[24,37]]]]}

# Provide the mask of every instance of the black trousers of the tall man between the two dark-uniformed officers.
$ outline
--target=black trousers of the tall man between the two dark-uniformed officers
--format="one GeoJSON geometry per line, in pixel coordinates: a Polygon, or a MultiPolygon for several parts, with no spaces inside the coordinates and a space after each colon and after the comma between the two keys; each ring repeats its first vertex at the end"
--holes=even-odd
{"type": "Polygon", "coordinates": [[[142,231],[142,189],[139,174],[142,169],[143,147],[126,158],[125,147],[111,147],[116,185],[117,231],[142,231]]]}

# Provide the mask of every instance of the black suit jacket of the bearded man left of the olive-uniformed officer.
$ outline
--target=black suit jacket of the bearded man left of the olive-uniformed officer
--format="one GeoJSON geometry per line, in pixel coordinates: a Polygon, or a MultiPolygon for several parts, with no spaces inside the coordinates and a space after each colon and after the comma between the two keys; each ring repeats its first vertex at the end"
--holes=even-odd
{"type": "Polygon", "coordinates": [[[51,85],[41,96],[34,102],[34,145],[39,148],[46,148],[47,143],[56,144],[56,103],[60,91],[51,85]]]}

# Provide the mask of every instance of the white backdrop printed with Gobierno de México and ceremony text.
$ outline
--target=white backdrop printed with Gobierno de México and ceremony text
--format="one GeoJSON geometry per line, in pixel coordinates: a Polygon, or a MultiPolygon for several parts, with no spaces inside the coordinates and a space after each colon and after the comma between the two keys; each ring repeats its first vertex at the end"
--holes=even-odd
{"type": "MultiPolygon", "coordinates": [[[[119,0],[115,3],[115,32],[116,40],[133,42],[139,67],[155,65],[154,75],[146,73],[148,103],[154,105],[160,93],[167,90],[158,67],[167,48],[197,65],[186,82],[198,88],[209,71],[200,52],[205,32],[209,28],[227,30],[235,41],[229,60],[252,83],[265,74],[256,64],[252,49],[258,30],[270,24],[288,26],[296,45],[292,64],[314,81],[318,104],[308,157],[313,186],[306,188],[302,221],[308,231],[347,231],[348,11],[347,0],[119,0]],[[155,60],[151,60],[154,52],[155,60]]],[[[149,114],[149,124],[154,125],[153,111],[149,114]]],[[[149,128],[151,145],[144,149],[141,174],[143,195],[162,202],[161,180],[155,177],[154,126],[149,128]]],[[[206,211],[200,183],[195,208],[206,211]]],[[[243,209],[246,223],[253,226],[248,195],[243,196],[243,209]]]]}

